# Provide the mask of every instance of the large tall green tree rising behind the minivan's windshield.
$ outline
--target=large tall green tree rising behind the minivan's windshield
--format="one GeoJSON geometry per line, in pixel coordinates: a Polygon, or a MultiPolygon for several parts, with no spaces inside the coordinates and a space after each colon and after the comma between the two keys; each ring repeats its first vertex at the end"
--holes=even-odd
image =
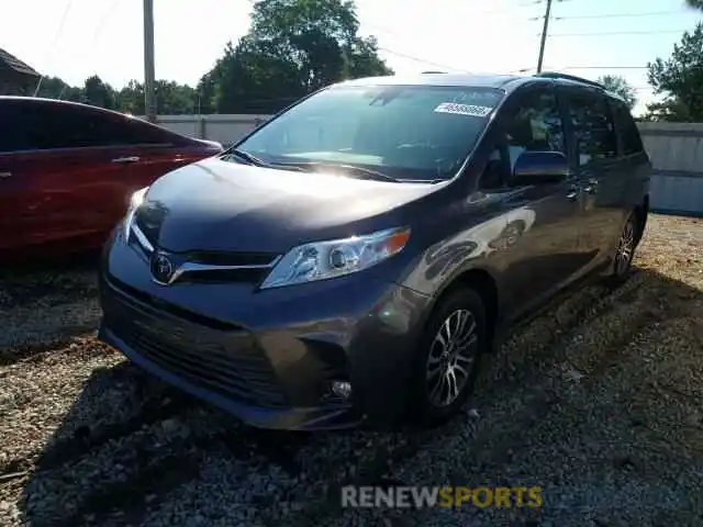
{"type": "Polygon", "coordinates": [[[201,79],[201,111],[274,113],[330,83],[391,74],[358,29],[350,1],[256,2],[249,33],[201,79]]]}

